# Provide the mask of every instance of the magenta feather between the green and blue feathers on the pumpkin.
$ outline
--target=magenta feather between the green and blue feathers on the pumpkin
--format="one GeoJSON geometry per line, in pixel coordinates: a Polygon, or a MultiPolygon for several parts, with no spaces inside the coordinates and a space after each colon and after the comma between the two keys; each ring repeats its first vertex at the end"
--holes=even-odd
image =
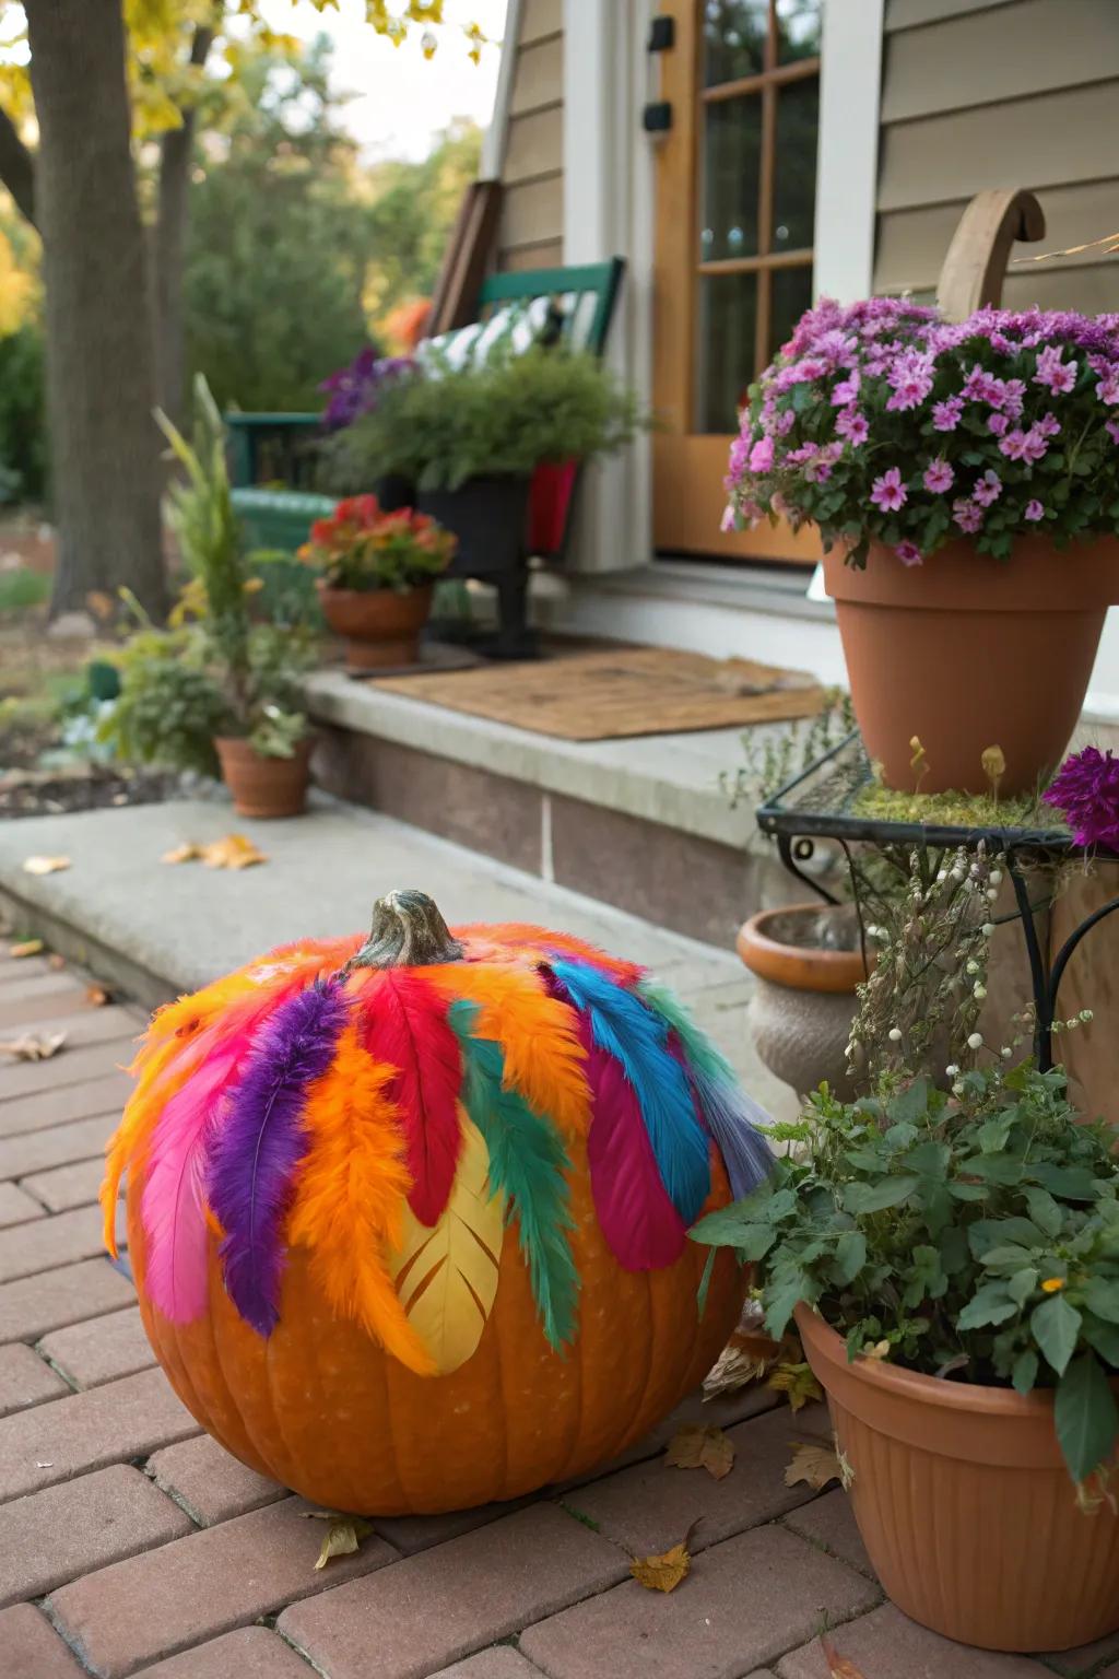
{"type": "Polygon", "coordinates": [[[587,1041],[592,1120],[587,1137],[591,1192],[602,1234],[627,1271],[661,1271],[684,1251],[684,1221],[668,1199],[621,1061],[587,1041]]]}

